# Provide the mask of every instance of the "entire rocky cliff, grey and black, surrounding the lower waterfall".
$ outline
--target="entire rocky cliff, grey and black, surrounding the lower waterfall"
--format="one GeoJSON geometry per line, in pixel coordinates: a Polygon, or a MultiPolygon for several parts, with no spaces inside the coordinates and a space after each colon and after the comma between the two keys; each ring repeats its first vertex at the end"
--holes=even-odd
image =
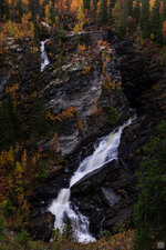
{"type": "MultiPolygon", "coordinates": [[[[0,76],[1,87],[6,83],[7,74],[9,86],[21,81],[18,91],[22,91],[24,97],[25,109],[20,107],[24,124],[29,124],[27,114],[31,107],[25,97],[32,94],[33,98],[37,83],[40,87],[39,98],[44,97],[45,110],[54,117],[69,107],[74,108],[72,119],[54,124],[66,166],[53,172],[29,197],[30,230],[35,231],[37,238],[45,240],[51,236],[54,217],[43,211],[56,198],[59,190],[69,186],[70,177],[80,161],[92,153],[93,142],[133,116],[135,111],[131,108],[136,109],[137,119],[122,134],[118,161],[80,180],[72,188],[72,206],[74,209],[76,204],[90,218],[91,232],[96,237],[102,234],[101,229],[112,231],[117,223],[132,226],[142,147],[166,117],[165,70],[159,61],[154,61],[153,54],[143,56],[131,40],[121,40],[114,31],[79,36],[69,33],[63,37],[61,46],[63,51],[59,46],[54,47],[52,41],[46,43],[51,64],[40,74],[40,60],[38,57],[35,60],[31,58],[30,41],[24,44],[10,41],[9,50],[17,54],[18,62],[12,62],[14,57],[10,53],[11,70],[0,76]],[[106,43],[100,43],[101,40],[106,43]],[[22,51],[27,51],[25,57],[22,51]],[[40,218],[44,224],[42,232],[40,218]]],[[[24,130],[28,131],[27,126],[24,130]]],[[[45,150],[51,140],[50,137],[38,143],[45,150]]]]}

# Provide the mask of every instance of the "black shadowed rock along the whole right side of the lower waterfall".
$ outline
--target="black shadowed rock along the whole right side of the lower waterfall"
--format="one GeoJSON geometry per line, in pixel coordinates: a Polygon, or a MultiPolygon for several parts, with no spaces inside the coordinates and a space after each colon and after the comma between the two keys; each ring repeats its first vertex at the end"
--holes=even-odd
{"type": "Polygon", "coordinates": [[[110,42],[120,62],[124,92],[136,109],[137,119],[122,134],[118,162],[90,173],[72,188],[72,199],[89,216],[95,234],[100,228],[112,231],[117,223],[132,226],[142,148],[166,117],[164,68],[158,61],[152,64],[153,54],[138,53],[132,41],[121,41],[114,32],[110,33],[110,42]]]}

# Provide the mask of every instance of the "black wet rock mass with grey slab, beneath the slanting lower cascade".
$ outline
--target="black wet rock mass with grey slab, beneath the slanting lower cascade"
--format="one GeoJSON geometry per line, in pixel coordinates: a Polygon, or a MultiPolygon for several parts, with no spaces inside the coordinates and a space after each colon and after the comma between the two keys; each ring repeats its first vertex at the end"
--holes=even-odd
{"type": "Polygon", "coordinates": [[[137,199],[136,177],[112,161],[75,183],[71,199],[89,217],[91,232],[100,237],[101,228],[112,231],[116,223],[131,220],[137,199]]]}

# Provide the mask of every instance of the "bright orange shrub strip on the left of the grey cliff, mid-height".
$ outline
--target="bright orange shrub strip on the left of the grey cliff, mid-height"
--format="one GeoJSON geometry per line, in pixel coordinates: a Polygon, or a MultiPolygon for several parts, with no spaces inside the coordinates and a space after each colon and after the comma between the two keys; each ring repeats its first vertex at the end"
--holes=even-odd
{"type": "Polygon", "coordinates": [[[71,119],[74,117],[74,111],[75,111],[75,108],[74,107],[70,107],[68,108],[66,110],[62,111],[62,112],[59,112],[56,116],[52,114],[50,111],[48,112],[48,118],[55,122],[55,121],[59,121],[59,122],[63,122],[63,120],[65,119],[71,119]]]}

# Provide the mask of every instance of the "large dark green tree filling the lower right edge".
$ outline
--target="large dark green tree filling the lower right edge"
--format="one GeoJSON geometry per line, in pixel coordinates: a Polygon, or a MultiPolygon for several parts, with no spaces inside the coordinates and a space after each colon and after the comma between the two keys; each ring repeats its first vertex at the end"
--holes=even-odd
{"type": "Polygon", "coordinates": [[[158,136],[151,140],[144,152],[135,206],[135,250],[153,249],[156,242],[166,239],[166,122],[158,127],[158,136]]]}

